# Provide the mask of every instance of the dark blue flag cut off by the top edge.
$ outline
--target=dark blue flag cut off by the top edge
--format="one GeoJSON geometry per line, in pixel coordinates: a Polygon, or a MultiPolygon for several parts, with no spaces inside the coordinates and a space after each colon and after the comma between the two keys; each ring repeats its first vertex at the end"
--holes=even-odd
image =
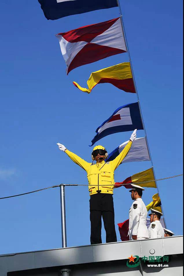
{"type": "Polygon", "coordinates": [[[117,0],[38,0],[47,19],[117,7],[117,0]]]}

